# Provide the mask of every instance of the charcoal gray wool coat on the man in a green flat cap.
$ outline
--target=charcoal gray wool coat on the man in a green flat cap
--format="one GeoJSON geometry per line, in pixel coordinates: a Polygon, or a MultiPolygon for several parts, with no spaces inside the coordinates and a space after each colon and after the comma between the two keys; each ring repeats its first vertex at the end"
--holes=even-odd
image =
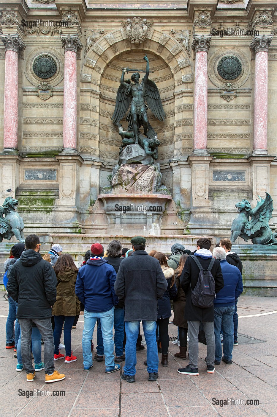
{"type": "Polygon", "coordinates": [[[146,251],[134,251],[123,259],[116,276],[114,290],[125,302],[125,322],[156,321],[158,298],[167,289],[167,281],[158,259],[146,251]]]}

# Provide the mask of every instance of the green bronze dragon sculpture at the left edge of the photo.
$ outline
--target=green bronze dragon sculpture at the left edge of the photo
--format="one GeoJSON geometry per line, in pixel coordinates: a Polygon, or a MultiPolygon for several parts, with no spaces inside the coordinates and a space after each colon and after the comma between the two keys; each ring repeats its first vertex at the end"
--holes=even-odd
{"type": "Polygon", "coordinates": [[[15,236],[20,243],[25,242],[23,236],[23,219],[15,211],[17,205],[18,201],[15,198],[7,197],[3,206],[0,206],[0,242],[3,239],[10,240],[12,236],[15,236]]]}

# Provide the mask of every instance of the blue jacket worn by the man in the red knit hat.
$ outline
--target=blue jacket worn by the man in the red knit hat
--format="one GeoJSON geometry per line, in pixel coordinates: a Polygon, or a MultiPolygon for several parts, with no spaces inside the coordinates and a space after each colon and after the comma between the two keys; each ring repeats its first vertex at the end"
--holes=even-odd
{"type": "Polygon", "coordinates": [[[89,259],[79,269],[75,294],[86,311],[104,313],[118,304],[114,291],[116,272],[103,258],[89,259]]]}

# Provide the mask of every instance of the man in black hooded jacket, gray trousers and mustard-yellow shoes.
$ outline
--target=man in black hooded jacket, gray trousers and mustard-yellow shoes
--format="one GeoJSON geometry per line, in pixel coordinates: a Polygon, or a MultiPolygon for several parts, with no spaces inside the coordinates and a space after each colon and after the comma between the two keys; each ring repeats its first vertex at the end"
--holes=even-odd
{"type": "MultiPolygon", "coordinates": [[[[32,234],[25,239],[26,251],[10,272],[7,291],[18,302],[16,317],[21,329],[22,363],[27,381],[35,377],[31,359],[31,333],[34,322],[44,340],[45,382],[65,378],[54,368],[54,339],[51,324],[52,305],[56,301],[57,278],[49,262],[42,259],[40,239],[32,234]]],[[[43,369],[43,368],[42,368],[43,369]]]]}

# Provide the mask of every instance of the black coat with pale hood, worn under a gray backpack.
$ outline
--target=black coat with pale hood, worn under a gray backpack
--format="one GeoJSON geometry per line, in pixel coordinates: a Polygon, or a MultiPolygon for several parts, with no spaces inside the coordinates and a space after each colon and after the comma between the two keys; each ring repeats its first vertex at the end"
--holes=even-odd
{"type": "MultiPolygon", "coordinates": [[[[202,265],[203,269],[207,269],[212,259],[212,253],[208,249],[198,249],[194,252],[195,256],[198,256],[198,261],[202,265]]],[[[190,322],[213,322],[214,321],[214,307],[201,308],[193,305],[191,301],[191,288],[194,289],[198,281],[199,268],[193,258],[188,256],[185,261],[182,274],[180,276],[180,283],[185,292],[185,315],[184,318],[190,322]]],[[[211,274],[215,279],[215,293],[217,294],[224,286],[222,271],[220,262],[215,259],[211,274]]]]}

